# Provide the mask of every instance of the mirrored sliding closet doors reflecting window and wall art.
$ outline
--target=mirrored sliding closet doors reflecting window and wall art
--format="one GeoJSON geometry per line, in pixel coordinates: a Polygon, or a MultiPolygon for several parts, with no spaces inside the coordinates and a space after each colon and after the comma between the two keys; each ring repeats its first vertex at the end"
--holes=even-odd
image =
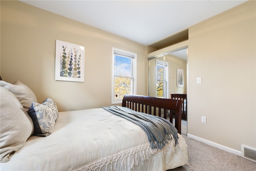
{"type": "MultiPolygon", "coordinates": [[[[148,95],[152,97],[171,98],[178,94],[182,98],[187,94],[187,51],[188,47],[172,50],[148,58],[148,95]]],[[[180,98],[181,98],[180,97],[180,98]]],[[[182,107],[182,134],[187,135],[187,99],[182,107]]]]}

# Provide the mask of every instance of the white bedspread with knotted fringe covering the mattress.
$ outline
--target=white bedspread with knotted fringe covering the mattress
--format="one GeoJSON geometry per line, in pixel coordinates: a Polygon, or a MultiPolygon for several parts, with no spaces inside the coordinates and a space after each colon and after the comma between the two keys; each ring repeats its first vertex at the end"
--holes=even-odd
{"type": "Polygon", "coordinates": [[[1,171],[164,171],[188,163],[186,142],[152,150],[146,133],[105,109],[59,112],[47,137],[31,136],[1,171]]]}

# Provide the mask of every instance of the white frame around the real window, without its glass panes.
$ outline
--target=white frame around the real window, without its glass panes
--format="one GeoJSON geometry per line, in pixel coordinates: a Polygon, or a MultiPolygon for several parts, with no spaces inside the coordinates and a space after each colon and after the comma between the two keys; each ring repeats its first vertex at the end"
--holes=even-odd
{"type": "Polygon", "coordinates": [[[118,52],[120,56],[124,54],[125,56],[132,56],[134,58],[133,62],[133,70],[132,70],[132,80],[133,82],[131,83],[131,94],[136,94],[137,91],[137,54],[128,52],[125,50],[120,50],[117,48],[112,48],[112,86],[111,86],[111,103],[112,104],[120,104],[122,103],[122,99],[115,99],[114,96],[114,59],[115,59],[115,52],[118,52]]]}

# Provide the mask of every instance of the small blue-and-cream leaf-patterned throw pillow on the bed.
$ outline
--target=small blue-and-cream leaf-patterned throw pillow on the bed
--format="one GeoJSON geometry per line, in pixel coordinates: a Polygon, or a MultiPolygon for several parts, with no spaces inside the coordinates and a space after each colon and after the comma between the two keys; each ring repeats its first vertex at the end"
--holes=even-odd
{"type": "Polygon", "coordinates": [[[34,124],[34,135],[46,137],[52,133],[55,118],[54,111],[50,107],[44,105],[44,103],[32,102],[31,107],[28,109],[28,115],[34,124]]]}

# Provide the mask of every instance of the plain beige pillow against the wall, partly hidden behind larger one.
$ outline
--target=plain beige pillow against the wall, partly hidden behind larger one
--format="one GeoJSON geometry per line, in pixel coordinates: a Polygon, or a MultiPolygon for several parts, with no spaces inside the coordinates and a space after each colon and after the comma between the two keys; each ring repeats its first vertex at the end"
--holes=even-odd
{"type": "Polygon", "coordinates": [[[34,92],[26,85],[22,84],[20,81],[16,81],[14,84],[10,84],[5,81],[0,81],[0,86],[8,89],[17,99],[20,101],[25,111],[28,112],[32,102],[37,103],[36,95],[34,92]]]}

